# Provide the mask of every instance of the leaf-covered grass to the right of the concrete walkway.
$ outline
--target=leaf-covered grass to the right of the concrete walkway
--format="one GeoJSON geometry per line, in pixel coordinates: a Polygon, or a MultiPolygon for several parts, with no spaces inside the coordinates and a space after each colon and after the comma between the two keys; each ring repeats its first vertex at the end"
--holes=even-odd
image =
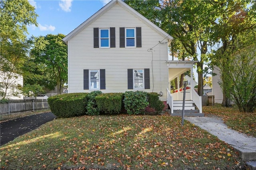
{"type": "Polygon", "coordinates": [[[237,106],[222,107],[221,104],[215,104],[215,106],[203,106],[203,113],[206,113],[206,116],[222,117],[228,127],[256,137],[256,112],[243,113],[239,112],[237,106]]]}

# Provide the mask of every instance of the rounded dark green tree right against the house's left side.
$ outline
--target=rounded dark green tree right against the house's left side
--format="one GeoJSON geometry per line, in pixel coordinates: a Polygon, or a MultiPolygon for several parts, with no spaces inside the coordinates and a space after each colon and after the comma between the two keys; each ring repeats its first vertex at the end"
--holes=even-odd
{"type": "Polygon", "coordinates": [[[32,61],[38,64],[35,71],[48,78],[44,84],[42,81],[37,83],[49,87],[54,82],[58,94],[62,94],[63,86],[68,80],[68,48],[62,41],[64,37],[63,34],[38,37],[30,53],[32,61]]]}

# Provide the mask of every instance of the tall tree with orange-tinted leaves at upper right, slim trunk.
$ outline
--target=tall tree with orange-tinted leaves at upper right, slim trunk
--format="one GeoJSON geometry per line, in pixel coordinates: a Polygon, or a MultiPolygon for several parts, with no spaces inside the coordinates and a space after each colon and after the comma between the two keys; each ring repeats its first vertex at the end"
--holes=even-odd
{"type": "MultiPolygon", "coordinates": [[[[229,64],[229,56],[232,53],[235,53],[237,48],[232,49],[234,47],[232,43],[236,36],[239,33],[242,33],[246,30],[254,29],[256,25],[256,3],[255,1],[241,1],[241,0],[233,0],[233,1],[210,1],[211,3],[218,6],[219,17],[217,20],[212,22],[212,37],[210,37],[215,44],[218,44],[217,55],[213,56],[212,64],[217,65],[218,67],[226,67],[225,64],[229,64]],[[248,5],[252,6],[248,8],[248,5]],[[222,61],[220,64],[219,61],[222,61]]],[[[224,69],[221,69],[224,70],[224,69]]],[[[224,72],[221,72],[221,74],[224,72]]],[[[225,74],[225,73],[224,73],[225,74]]],[[[222,75],[221,75],[222,77],[222,75]]],[[[224,77],[222,77],[224,80],[224,77]]],[[[228,82],[222,82],[223,87],[228,86],[228,82]]],[[[230,104],[230,96],[228,89],[223,88],[223,101],[222,106],[229,107],[230,104]]]]}

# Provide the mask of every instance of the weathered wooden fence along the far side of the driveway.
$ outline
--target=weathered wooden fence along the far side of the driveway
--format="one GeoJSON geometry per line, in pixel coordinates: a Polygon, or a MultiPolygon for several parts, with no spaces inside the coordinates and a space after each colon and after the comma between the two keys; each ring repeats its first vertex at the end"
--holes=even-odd
{"type": "Polygon", "coordinates": [[[0,103],[0,114],[12,114],[24,111],[35,111],[49,108],[47,99],[9,100],[8,103],[0,103]]]}

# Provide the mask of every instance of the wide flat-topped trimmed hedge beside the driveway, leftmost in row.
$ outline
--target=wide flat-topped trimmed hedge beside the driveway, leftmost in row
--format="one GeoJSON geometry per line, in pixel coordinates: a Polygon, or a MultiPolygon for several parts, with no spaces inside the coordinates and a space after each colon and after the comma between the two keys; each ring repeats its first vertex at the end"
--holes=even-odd
{"type": "Polygon", "coordinates": [[[70,93],[48,98],[48,104],[57,117],[85,115],[88,93],[70,93]]]}

